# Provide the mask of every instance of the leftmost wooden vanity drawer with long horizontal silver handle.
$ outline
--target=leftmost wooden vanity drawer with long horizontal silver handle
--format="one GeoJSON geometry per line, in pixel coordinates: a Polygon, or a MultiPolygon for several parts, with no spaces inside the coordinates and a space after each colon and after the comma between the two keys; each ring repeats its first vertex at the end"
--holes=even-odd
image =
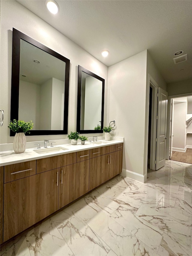
{"type": "Polygon", "coordinates": [[[4,183],[36,174],[36,160],[4,166],[4,183]]]}

